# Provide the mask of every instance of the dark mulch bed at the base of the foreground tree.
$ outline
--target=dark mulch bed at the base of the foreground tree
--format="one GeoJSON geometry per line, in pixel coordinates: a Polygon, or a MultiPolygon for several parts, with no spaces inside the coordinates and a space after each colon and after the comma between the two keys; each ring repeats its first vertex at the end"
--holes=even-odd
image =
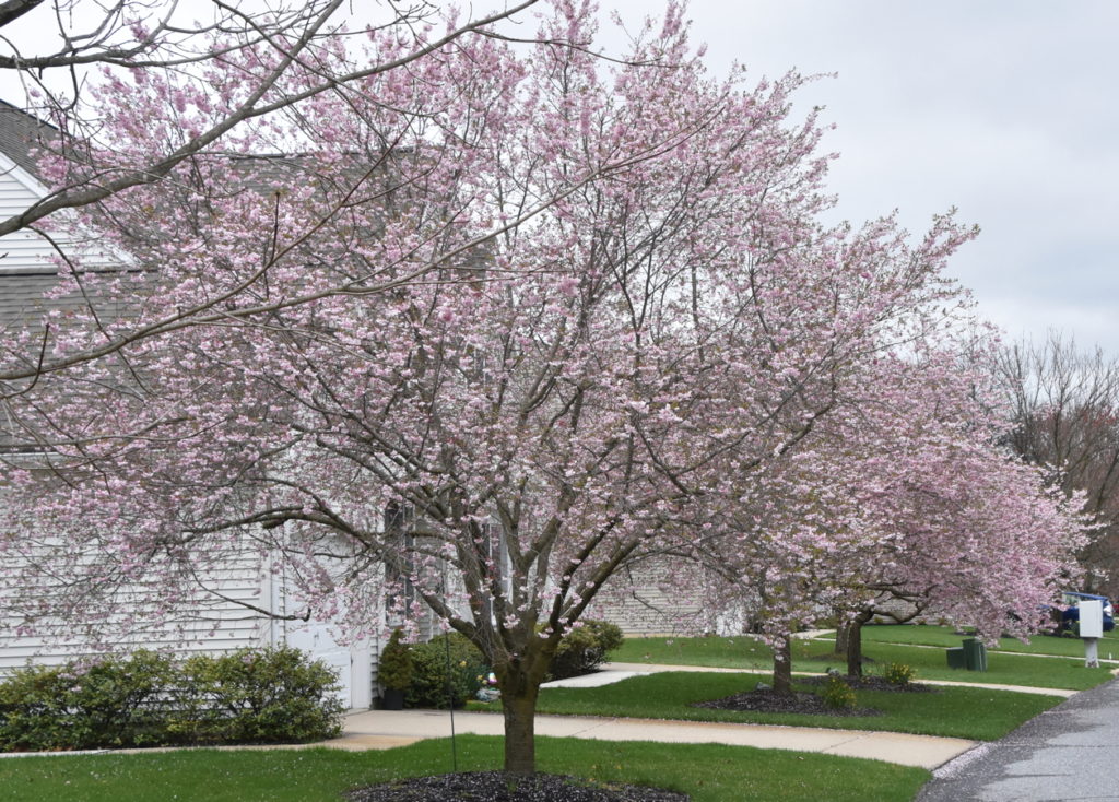
{"type": "Polygon", "coordinates": [[[510,777],[461,772],[397,780],[350,791],[351,802],[689,802],[687,794],[642,785],[586,785],[562,774],[510,777]]]}

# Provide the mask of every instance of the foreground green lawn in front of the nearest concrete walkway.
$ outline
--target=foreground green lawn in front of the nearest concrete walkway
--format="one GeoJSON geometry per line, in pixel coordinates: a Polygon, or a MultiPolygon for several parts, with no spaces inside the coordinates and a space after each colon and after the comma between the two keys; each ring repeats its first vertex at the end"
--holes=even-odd
{"type": "MultiPolygon", "coordinates": [[[[460,771],[500,766],[501,739],[458,738],[460,771]]],[[[905,802],[929,772],[878,761],[711,744],[538,738],[540,771],[670,787],[695,802],[905,802]]],[[[6,802],[341,802],[352,787],[451,771],[450,740],[385,752],[179,751],[0,759],[6,802]]]]}

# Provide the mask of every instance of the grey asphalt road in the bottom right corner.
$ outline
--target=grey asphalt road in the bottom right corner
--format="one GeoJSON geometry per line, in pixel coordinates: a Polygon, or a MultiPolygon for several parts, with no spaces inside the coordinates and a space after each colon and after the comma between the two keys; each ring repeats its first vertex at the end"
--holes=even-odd
{"type": "Polygon", "coordinates": [[[916,802],[1119,802],[1119,680],[933,773],[916,802]]]}

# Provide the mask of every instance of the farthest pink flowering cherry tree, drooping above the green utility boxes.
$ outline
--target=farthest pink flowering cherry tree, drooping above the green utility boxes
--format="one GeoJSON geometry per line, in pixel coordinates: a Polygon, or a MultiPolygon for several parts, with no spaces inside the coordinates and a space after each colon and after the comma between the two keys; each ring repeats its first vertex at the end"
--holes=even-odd
{"type": "MultiPolygon", "coordinates": [[[[927,353],[899,371],[909,425],[890,426],[865,464],[867,509],[892,537],[864,570],[872,597],[847,605],[848,673],[861,673],[861,624],[890,598],[987,640],[1027,638],[1081,569],[1076,554],[1091,530],[1083,498],[1003,445],[1009,427],[987,377],[993,343],[927,353]]],[[[881,424],[880,424],[881,425],[881,424]]]]}

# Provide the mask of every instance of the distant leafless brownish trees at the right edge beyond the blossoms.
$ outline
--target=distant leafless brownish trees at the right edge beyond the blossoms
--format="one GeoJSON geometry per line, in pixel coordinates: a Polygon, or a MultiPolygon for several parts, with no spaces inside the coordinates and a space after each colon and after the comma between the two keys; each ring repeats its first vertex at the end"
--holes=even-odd
{"type": "Polygon", "coordinates": [[[1008,348],[998,376],[1014,407],[1013,447],[1056,469],[1065,491],[1083,491],[1101,525],[1081,554],[1085,582],[1119,594],[1119,359],[1051,333],[1008,348]]]}

